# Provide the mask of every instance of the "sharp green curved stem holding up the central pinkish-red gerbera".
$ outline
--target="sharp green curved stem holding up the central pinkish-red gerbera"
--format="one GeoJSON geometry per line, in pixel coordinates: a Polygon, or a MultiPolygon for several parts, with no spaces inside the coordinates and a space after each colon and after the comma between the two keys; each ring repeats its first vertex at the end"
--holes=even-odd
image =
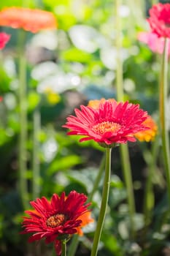
{"type": "Polygon", "coordinates": [[[98,222],[96,226],[96,232],[93,240],[93,247],[91,251],[91,256],[96,256],[98,252],[98,244],[101,238],[101,231],[104,226],[104,219],[107,212],[107,202],[109,198],[109,184],[110,184],[110,172],[111,172],[111,151],[112,148],[106,148],[106,167],[105,167],[105,175],[104,175],[104,187],[102,192],[101,199],[101,209],[98,216],[98,222]]]}

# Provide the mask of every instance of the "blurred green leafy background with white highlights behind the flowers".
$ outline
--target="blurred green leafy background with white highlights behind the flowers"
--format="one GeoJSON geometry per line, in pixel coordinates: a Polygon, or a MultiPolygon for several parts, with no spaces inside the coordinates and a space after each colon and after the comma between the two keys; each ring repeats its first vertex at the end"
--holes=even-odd
{"type": "MultiPolygon", "coordinates": [[[[58,29],[26,33],[26,192],[28,201],[72,189],[89,195],[103,155],[93,142],[79,143],[61,126],[74,108],[90,99],[116,97],[117,16],[122,40],[124,99],[139,103],[158,121],[160,56],[137,40],[147,31],[148,9],[157,1],[27,0],[25,7],[53,12],[58,29]]],[[[162,1],[168,2],[168,1],[162,1]]],[[[22,6],[22,0],[0,2],[0,8],[22,6]]],[[[36,22],[36,20],[35,20],[36,22]]],[[[19,31],[1,27],[11,39],[0,56],[0,255],[51,255],[52,247],[28,244],[20,235],[23,205],[18,171],[20,108],[18,102],[19,31]]],[[[119,31],[118,31],[119,32],[119,31]]],[[[136,203],[135,236],[131,238],[127,193],[119,149],[112,152],[109,207],[98,255],[170,255],[169,208],[159,138],[129,143],[136,203]],[[148,173],[152,170],[150,211],[144,214],[148,173]]],[[[101,185],[93,195],[97,219],[101,185]]],[[[89,255],[96,222],[85,228],[76,255],[89,255]]]]}

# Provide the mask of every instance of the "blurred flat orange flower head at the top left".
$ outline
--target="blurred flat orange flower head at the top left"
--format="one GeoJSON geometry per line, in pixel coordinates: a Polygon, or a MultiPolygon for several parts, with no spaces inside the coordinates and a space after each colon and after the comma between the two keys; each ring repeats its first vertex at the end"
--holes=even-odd
{"type": "Polygon", "coordinates": [[[0,12],[0,26],[36,33],[42,29],[55,29],[57,24],[51,12],[24,7],[8,7],[0,12]]]}

